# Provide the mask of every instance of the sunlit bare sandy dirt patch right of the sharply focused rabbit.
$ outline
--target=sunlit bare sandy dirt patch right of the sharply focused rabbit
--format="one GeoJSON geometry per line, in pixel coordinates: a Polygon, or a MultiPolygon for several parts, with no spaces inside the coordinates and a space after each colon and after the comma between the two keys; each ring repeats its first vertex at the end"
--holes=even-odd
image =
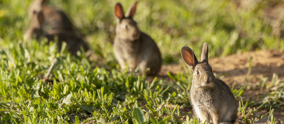
{"type": "Polygon", "coordinates": [[[252,69],[250,75],[256,78],[269,77],[271,79],[273,73],[276,73],[278,78],[284,79],[283,51],[250,51],[228,55],[222,58],[212,58],[209,59],[209,64],[217,75],[228,74],[222,79],[228,84],[236,82],[238,85],[245,85],[251,57],[252,69]]]}

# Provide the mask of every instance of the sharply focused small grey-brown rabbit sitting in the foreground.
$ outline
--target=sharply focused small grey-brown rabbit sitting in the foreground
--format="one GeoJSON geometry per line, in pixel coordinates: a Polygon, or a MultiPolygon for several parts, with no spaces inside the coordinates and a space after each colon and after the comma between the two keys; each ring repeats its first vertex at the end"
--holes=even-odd
{"type": "Polygon", "coordinates": [[[233,124],[237,118],[237,102],[228,85],[212,73],[207,43],[202,46],[200,62],[187,46],[181,48],[181,56],[193,72],[190,98],[195,116],[202,122],[233,124]]]}

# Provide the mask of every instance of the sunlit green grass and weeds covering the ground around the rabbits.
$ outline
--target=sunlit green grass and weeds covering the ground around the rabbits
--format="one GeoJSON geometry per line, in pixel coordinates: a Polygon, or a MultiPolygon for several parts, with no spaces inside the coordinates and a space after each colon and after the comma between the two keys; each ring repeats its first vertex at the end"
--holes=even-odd
{"type": "MultiPolygon", "coordinates": [[[[23,41],[31,0],[0,1],[0,123],[200,123],[191,118],[188,90],[191,71],[182,62],[180,48],[189,46],[200,56],[204,42],[209,57],[260,49],[284,49],[283,37],[267,23],[267,1],[240,9],[233,1],[139,1],[134,20],[158,44],[163,64],[183,63],[186,73],[168,73],[170,81],[145,80],[120,72],[112,51],[116,1],[49,1],[62,8],[95,53],[89,62],[75,58],[56,43],[23,41]],[[48,80],[43,78],[55,63],[48,80]]],[[[133,1],[120,1],[126,10],[133,1]]],[[[272,1],[281,3],[281,1],[272,1]]],[[[64,47],[64,46],[63,46],[64,47]]],[[[277,75],[256,89],[270,91],[259,102],[242,101],[244,89],[233,86],[245,123],[263,116],[259,108],[283,110],[283,81],[277,75]],[[259,107],[260,106],[260,107],[259,107]],[[255,108],[257,107],[257,108],[255,108]],[[252,118],[252,119],[250,119],[252,118]]]]}

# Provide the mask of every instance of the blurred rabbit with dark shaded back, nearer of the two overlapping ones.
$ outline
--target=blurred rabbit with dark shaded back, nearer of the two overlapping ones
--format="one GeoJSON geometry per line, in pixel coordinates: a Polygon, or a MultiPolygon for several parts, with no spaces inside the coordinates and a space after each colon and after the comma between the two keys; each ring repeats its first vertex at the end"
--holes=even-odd
{"type": "Polygon", "coordinates": [[[62,41],[65,41],[68,47],[68,50],[72,55],[77,55],[77,51],[80,50],[80,46],[83,46],[84,51],[87,52],[89,47],[80,37],[77,37],[75,33],[71,31],[64,31],[60,29],[51,29],[49,31],[43,30],[44,25],[44,16],[43,13],[36,12],[31,17],[31,25],[28,28],[28,32],[31,34],[36,33],[36,39],[39,40],[40,37],[46,37],[48,41],[54,41],[54,37],[58,38],[58,48],[61,50],[62,41]]]}

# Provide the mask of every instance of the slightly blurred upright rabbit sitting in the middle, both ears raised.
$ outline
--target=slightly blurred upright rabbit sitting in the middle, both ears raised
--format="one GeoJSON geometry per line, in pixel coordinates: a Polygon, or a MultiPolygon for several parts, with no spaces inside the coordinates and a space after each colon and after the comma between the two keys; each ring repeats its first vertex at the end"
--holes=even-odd
{"type": "Polygon", "coordinates": [[[138,1],[133,3],[124,15],[122,5],[115,3],[114,17],[116,18],[116,36],[114,38],[114,55],[120,69],[128,67],[135,70],[139,68],[138,73],[146,72],[147,75],[156,75],[161,68],[161,53],[151,37],[141,32],[133,20],[138,1]]]}

